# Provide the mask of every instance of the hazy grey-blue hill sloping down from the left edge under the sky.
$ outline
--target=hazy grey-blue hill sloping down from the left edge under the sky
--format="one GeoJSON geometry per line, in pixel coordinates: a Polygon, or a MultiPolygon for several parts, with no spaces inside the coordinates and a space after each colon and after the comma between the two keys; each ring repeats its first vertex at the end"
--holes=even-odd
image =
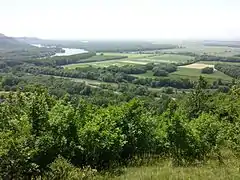
{"type": "Polygon", "coordinates": [[[0,49],[29,48],[31,45],[0,33],[0,49]]]}

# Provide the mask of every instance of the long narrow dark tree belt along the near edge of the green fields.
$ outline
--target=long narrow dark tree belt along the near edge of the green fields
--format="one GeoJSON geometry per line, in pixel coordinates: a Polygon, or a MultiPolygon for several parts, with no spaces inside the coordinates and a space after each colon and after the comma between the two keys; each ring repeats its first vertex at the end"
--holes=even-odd
{"type": "MultiPolygon", "coordinates": [[[[40,66],[19,66],[15,69],[18,72],[26,72],[35,75],[44,74],[52,76],[61,76],[69,78],[82,78],[90,80],[98,80],[102,82],[128,82],[137,85],[144,85],[149,87],[174,87],[179,89],[191,89],[193,82],[189,79],[172,79],[172,78],[137,78],[135,76],[121,72],[121,68],[117,72],[107,70],[107,68],[80,68],[80,69],[63,69],[52,67],[40,67],[40,66]]],[[[133,73],[132,69],[131,73],[133,73]]],[[[134,69],[135,70],[135,69],[134,69]]],[[[124,70],[125,71],[125,70],[124,70]]],[[[136,72],[135,72],[136,73],[136,72]]]]}

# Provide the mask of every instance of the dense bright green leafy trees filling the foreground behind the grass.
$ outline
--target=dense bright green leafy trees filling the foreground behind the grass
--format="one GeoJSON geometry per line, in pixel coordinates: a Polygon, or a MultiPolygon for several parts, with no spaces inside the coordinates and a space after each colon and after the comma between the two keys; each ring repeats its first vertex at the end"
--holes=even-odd
{"type": "Polygon", "coordinates": [[[206,84],[200,78],[163,113],[136,99],[101,107],[82,99],[58,100],[41,88],[10,93],[0,104],[0,176],[91,179],[96,171],[146,154],[170,157],[177,166],[209,158],[224,162],[221,150],[236,155],[240,150],[239,88],[207,93],[206,84]]]}

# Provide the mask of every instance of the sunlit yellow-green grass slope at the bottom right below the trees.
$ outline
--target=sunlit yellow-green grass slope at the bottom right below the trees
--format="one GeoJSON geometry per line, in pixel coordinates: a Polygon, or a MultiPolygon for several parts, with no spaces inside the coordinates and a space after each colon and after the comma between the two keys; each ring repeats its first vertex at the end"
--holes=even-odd
{"type": "Polygon", "coordinates": [[[232,154],[226,154],[224,164],[216,159],[198,165],[174,167],[170,160],[122,168],[120,175],[103,174],[95,179],[111,180],[234,180],[240,179],[240,161],[232,154]]]}

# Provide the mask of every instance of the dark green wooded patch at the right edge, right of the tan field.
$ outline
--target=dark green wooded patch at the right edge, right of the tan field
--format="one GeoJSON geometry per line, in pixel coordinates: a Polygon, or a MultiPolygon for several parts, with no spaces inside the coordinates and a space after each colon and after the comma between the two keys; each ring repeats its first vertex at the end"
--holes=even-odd
{"type": "Polygon", "coordinates": [[[240,66],[231,64],[216,64],[215,69],[233,78],[240,78],[240,66]]]}

